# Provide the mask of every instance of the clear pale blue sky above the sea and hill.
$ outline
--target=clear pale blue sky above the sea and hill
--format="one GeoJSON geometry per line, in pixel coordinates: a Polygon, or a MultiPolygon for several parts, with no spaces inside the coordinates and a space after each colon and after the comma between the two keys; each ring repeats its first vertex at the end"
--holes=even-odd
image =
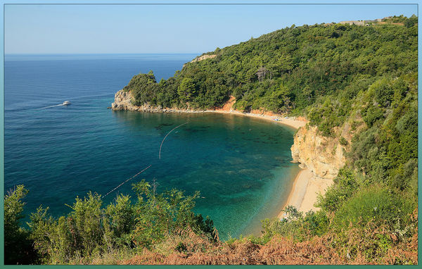
{"type": "Polygon", "coordinates": [[[414,5],[13,5],[6,54],[202,53],[290,25],[417,14],[414,5]]]}

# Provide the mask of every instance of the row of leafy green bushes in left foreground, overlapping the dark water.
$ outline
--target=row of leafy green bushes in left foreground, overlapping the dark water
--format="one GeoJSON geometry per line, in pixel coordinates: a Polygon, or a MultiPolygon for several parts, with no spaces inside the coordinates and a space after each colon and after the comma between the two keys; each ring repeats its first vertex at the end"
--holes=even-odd
{"type": "Polygon", "coordinates": [[[32,213],[30,238],[44,263],[89,263],[94,258],[128,254],[131,249],[151,248],[171,234],[191,227],[211,242],[218,238],[212,220],[193,213],[197,192],[185,196],[172,189],[161,194],[148,182],[134,184],[137,201],[117,196],[106,208],[101,196],[87,194],[76,198],[72,211],[58,219],[48,215],[49,208],[32,213]]]}

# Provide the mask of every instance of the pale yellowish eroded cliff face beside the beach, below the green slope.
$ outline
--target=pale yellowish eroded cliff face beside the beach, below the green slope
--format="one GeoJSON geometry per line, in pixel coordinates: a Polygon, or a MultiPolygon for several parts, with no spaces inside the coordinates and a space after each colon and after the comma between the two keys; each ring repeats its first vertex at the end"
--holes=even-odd
{"type": "Polygon", "coordinates": [[[318,134],[317,127],[301,127],[291,151],[293,162],[309,168],[316,177],[332,180],[345,165],[345,147],[338,138],[318,134]]]}

